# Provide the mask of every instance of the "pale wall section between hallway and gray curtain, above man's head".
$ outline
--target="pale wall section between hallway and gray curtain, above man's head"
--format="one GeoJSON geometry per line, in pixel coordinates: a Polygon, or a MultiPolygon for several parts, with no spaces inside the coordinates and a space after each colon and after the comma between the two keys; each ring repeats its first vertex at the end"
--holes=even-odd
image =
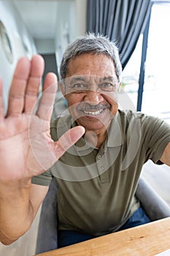
{"type": "Polygon", "coordinates": [[[67,45],[85,34],[86,4],[87,0],[58,1],[55,27],[55,52],[58,64],[67,45]]]}

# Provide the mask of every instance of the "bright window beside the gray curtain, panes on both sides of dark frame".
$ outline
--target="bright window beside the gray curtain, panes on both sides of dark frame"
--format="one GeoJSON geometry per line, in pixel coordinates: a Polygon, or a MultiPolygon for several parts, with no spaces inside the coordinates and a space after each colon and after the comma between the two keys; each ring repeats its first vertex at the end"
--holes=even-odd
{"type": "MultiPolygon", "coordinates": [[[[152,5],[145,62],[142,112],[170,122],[170,2],[152,5]]],[[[142,57],[142,35],[123,70],[123,87],[128,97],[137,105],[139,71],[142,57]]]]}

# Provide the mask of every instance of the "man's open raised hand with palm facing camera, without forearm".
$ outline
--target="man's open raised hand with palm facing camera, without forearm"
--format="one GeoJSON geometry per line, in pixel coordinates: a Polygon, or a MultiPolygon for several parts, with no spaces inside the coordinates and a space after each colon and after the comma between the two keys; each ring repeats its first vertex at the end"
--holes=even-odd
{"type": "Polygon", "coordinates": [[[31,178],[45,172],[84,133],[75,127],[54,142],[50,137],[50,116],[57,89],[57,78],[45,78],[42,97],[36,105],[44,71],[41,56],[18,61],[9,91],[7,116],[4,117],[0,81],[0,181],[31,178]]]}

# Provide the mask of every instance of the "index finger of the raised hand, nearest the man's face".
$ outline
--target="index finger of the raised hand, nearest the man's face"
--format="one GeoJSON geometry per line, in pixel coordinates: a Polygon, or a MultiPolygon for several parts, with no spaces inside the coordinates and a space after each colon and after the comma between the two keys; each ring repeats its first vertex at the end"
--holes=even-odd
{"type": "Polygon", "coordinates": [[[53,72],[48,73],[45,78],[42,97],[39,100],[39,108],[36,112],[36,115],[39,116],[39,118],[50,121],[57,88],[56,75],[53,72]]]}

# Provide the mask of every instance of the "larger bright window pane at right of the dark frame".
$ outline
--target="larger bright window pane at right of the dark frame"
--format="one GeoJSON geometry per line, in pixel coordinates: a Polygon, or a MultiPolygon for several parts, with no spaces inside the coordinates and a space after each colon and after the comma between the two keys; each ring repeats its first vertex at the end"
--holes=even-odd
{"type": "Polygon", "coordinates": [[[170,122],[169,13],[170,3],[152,6],[142,111],[170,122]]]}

